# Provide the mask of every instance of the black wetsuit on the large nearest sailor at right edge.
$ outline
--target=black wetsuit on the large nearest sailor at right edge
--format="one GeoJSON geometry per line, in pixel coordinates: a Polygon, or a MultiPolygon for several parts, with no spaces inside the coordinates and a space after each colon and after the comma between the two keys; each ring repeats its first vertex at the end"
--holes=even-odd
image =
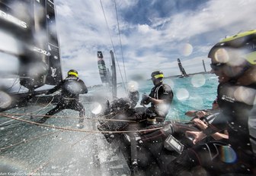
{"type": "MultiPolygon", "coordinates": [[[[190,168],[201,165],[215,175],[255,175],[255,156],[251,149],[248,131],[248,117],[253,107],[256,85],[237,86],[235,83],[222,83],[218,86],[220,114],[204,130],[210,135],[227,129],[229,143],[205,143],[187,149],[174,162],[166,165],[169,175],[181,175],[190,168]],[[242,93],[239,93],[242,90],[242,93]],[[246,94],[245,94],[246,93],[246,94]],[[227,146],[227,145],[230,146],[227,146]],[[229,158],[225,157],[229,154],[229,158]]],[[[167,174],[167,175],[168,175],[167,174]]]]}

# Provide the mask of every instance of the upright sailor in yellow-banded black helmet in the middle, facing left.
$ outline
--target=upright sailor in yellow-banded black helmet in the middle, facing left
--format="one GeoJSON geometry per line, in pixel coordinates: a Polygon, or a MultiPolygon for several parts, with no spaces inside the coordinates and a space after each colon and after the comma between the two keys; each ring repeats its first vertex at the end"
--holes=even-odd
{"type": "Polygon", "coordinates": [[[151,79],[154,87],[149,95],[146,93],[142,94],[140,104],[148,105],[151,103],[151,107],[147,108],[146,113],[142,113],[139,118],[146,118],[148,125],[165,121],[165,117],[171,108],[174,93],[171,90],[171,86],[163,83],[163,78],[164,74],[162,71],[153,71],[151,79]]]}

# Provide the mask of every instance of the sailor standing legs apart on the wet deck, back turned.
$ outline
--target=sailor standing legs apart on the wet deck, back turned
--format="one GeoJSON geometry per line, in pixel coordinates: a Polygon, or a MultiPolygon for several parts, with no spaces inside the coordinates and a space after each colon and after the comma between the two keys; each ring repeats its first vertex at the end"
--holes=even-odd
{"type": "Polygon", "coordinates": [[[43,124],[50,115],[54,115],[63,109],[70,108],[79,112],[79,124],[78,127],[83,127],[83,121],[85,117],[85,108],[81,102],[79,102],[79,94],[88,93],[87,86],[83,80],[78,78],[78,71],[68,71],[68,76],[65,80],[62,80],[58,85],[49,90],[46,95],[61,90],[61,99],[55,108],[46,113],[46,117],[41,118],[38,123],[43,124]]]}

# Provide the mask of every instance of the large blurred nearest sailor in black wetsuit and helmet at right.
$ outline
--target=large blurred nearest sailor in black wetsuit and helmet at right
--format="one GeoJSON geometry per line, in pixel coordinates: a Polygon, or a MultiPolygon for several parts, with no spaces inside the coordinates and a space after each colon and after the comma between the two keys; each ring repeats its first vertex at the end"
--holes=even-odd
{"type": "Polygon", "coordinates": [[[252,30],[223,39],[210,50],[211,72],[219,78],[217,101],[221,111],[206,130],[187,134],[197,143],[227,129],[228,143],[205,143],[184,151],[165,165],[165,175],[184,175],[198,165],[213,175],[256,175],[256,153],[252,149],[256,114],[251,112],[256,95],[255,46],[256,30],[252,30]]]}

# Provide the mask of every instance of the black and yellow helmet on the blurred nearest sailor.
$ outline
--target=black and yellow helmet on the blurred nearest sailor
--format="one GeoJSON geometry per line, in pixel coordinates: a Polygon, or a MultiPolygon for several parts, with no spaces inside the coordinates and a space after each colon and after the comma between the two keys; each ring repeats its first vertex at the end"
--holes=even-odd
{"type": "Polygon", "coordinates": [[[249,30],[230,36],[218,42],[208,54],[212,58],[214,69],[229,64],[229,66],[244,66],[245,70],[256,64],[256,30],[249,30]]]}

